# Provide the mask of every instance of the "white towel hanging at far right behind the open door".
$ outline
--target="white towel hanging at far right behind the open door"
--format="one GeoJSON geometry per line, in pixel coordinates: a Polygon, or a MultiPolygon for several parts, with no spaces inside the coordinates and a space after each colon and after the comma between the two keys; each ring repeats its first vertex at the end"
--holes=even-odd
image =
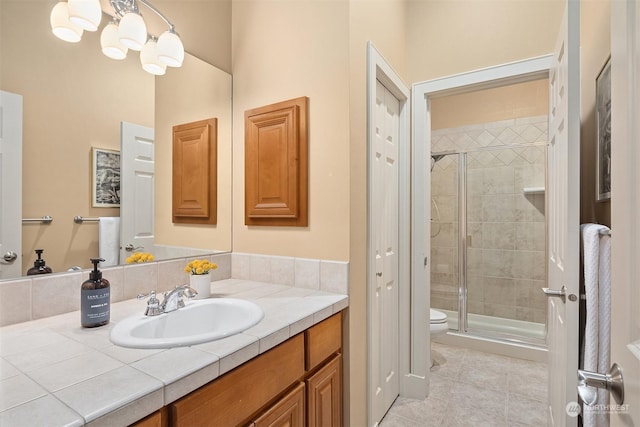
{"type": "MultiPolygon", "coordinates": [[[[611,241],[600,231],[609,228],[583,224],[581,230],[587,300],[582,369],[605,373],[609,370],[611,349],[611,241]]],[[[593,388],[590,391],[593,395],[597,393],[597,404],[609,403],[607,390],[593,388]]],[[[584,405],[583,424],[585,427],[609,425],[608,414],[584,405]]]]}

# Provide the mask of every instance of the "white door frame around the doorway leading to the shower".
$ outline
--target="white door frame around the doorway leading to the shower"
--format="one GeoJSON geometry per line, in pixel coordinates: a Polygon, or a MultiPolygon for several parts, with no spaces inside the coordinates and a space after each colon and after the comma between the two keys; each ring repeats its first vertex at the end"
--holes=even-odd
{"type": "MultiPolygon", "coordinates": [[[[430,98],[459,94],[473,90],[489,89],[507,84],[523,83],[549,77],[553,56],[543,55],[493,67],[482,68],[465,73],[454,74],[433,80],[414,83],[411,88],[412,103],[412,182],[411,195],[413,206],[413,236],[424,236],[412,242],[412,282],[424,284],[420,286],[421,301],[426,307],[431,306],[431,105],[430,98]]],[[[424,319],[428,324],[427,310],[423,309],[424,319]]],[[[431,348],[429,328],[424,334],[424,347],[431,348]]],[[[527,350],[524,350],[526,352],[527,350]]],[[[430,354],[427,353],[430,360],[430,354]]],[[[425,366],[430,366],[430,363],[425,366]]],[[[428,372],[427,372],[428,375],[428,372]]],[[[428,383],[428,381],[427,381],[428,383]]],[[[427,392],[429,385],[427,384],[427,392]]]]}

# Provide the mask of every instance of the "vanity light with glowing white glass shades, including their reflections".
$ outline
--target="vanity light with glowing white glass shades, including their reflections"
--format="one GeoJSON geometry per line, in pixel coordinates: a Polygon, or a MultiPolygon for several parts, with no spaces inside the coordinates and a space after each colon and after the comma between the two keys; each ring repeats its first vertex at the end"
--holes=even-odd
{"type": "MultiPolygon", "coordinates": [[[[114,14],[100,34],[102,53],[112,59],[124,59],[129,50],[140,51],[142,68],[154,75],[164,74],[167,66],[182,66],[184,45],[175,26],[162,12],[147,0],[109,0],[109,3],[114,14]],[[147,33],[139,3],[169,26],[160,37],[147,33]]],[[[84,30],[97,31],[101,17],[100,0],[60,1],[51,11],[51,30],[64,41],[79,42],[84,30]]]]}

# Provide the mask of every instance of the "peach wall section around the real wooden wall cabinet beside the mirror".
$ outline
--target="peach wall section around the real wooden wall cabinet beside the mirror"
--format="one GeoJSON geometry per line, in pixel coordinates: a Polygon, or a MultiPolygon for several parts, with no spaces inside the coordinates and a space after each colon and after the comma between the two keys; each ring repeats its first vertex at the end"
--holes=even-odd
{"type": "Polygon", "coordinates": [[[348,2],[233,3],[233,250],[349,259],[348,2]],[[244,112],[309,97],[309,226],[244,225],[244,112]]]}

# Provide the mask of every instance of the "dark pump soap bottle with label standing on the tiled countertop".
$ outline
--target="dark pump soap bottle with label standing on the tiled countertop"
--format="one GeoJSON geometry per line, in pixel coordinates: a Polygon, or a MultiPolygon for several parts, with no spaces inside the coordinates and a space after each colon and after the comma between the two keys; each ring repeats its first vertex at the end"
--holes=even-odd
{"type": "Polygon", "coordinates": [[[110,317],[110,285],[102,278],[98,263],[102,258],[91,258],[93,271],[80,289],[80,322],[84,328],[95,328],[109,323],[110,317]]]}

